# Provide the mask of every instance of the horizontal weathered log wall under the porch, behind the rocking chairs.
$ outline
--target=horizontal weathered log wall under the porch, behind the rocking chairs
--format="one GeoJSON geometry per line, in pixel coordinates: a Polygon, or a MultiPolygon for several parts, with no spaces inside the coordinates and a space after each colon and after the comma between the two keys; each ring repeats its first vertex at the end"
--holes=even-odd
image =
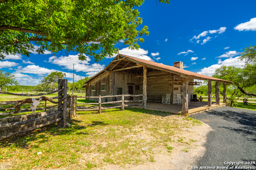
{"type": "MultiPolygon", "coordinates": [[[[172,102],[173,97],[173,85],[169,83],[171,74],[164,71],[153,71],[147,72],[147,96],[161,96],[166,97],[166,93],[170,93],[170,102],[172,102]]],[[[140,80],[140,86],[143,86],[143,78],[140,80]]],[[[142,89],[140,89],[140,94],[142,94],[142,89]]],[[[148,100],[150,101],[150,100],[148,100]]]]}

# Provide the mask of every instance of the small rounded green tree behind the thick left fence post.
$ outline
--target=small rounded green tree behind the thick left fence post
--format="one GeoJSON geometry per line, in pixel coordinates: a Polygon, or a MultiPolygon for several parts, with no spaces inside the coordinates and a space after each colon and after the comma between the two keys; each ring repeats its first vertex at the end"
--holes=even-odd
{"type": "Polygon", "coordinates": [[[45,89],[53,90],[54,88],[58,88],[58,80],[63,79],[66,76],[66,73],[62,72],[51,72],[48,76],[44,77],[42,80],[42,86],[45,89]]]}

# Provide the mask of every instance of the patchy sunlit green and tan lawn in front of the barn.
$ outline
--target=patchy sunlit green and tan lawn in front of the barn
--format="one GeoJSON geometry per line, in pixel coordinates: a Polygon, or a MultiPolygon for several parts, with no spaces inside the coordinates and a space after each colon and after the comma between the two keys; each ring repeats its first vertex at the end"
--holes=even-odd
{"type": "Polygon", "coordinates": [[[195,140],[182,134],[188,131],[186,128],[201,125],[190,117],[139,108],[108,109],[100,115],[97,111],[80,111],[68,123],[71,126],[65,129],[55,123],[3,139],[0,164],[9,164],[9,169],[15,170],[87,170],[107,164],[154,162],[156,154],[172,154],[175,143],[184,145],[188,152],[195,140]]]}

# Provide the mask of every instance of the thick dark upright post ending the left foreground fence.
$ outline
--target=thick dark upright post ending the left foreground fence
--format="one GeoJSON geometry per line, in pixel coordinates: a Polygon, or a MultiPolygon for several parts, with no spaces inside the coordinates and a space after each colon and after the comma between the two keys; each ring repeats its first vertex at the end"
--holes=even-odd
{"type": "MultiPolygon", "coordinates": [[[[67,88],[68,88],[68,80],[67,79],[59,79],[58,82],[58,90],[62,89],[62,91],[58,92],[58,96],[62,96],[62,98],[58,98],[58,101],[66,98],[67,95],[67,88]]],[[[67,124],[67,99],[63,101],[62,104],[58,105],[58,111],[62,111],[62,114],[59,117],[62,117],[62,120],[58,121],[58,127],[66,127],[67,124]]]]}

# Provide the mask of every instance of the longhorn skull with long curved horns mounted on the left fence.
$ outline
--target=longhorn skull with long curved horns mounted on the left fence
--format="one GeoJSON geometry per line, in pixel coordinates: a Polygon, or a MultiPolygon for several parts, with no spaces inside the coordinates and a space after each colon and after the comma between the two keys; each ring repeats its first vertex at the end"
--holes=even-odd
{"type": "Polygon", "coordinates": [[[6,108],[15,108],[17,111],[20,111],[20,106],[24,103],[32,103],[30,105],[30,108],[32,109],[32,113],[34,113],[36,111],[36,107],[40,104],[40,101],[41,100],[47,100],[53,104],[60,104],[61,102],[63,102],[66,98],[60,100],[59,102],[54,102],[52,100],[50,100],[49,98],[45,97],[45,96],[42,96],[40,98],[37,98],[37,99],[31,99],[31,98],[28,98],[28,99],[24,99],[22,101],[20,101],[18,104],[15,104],[15,106],[9,106],[9,107],[6,107],[6,108]]]}

